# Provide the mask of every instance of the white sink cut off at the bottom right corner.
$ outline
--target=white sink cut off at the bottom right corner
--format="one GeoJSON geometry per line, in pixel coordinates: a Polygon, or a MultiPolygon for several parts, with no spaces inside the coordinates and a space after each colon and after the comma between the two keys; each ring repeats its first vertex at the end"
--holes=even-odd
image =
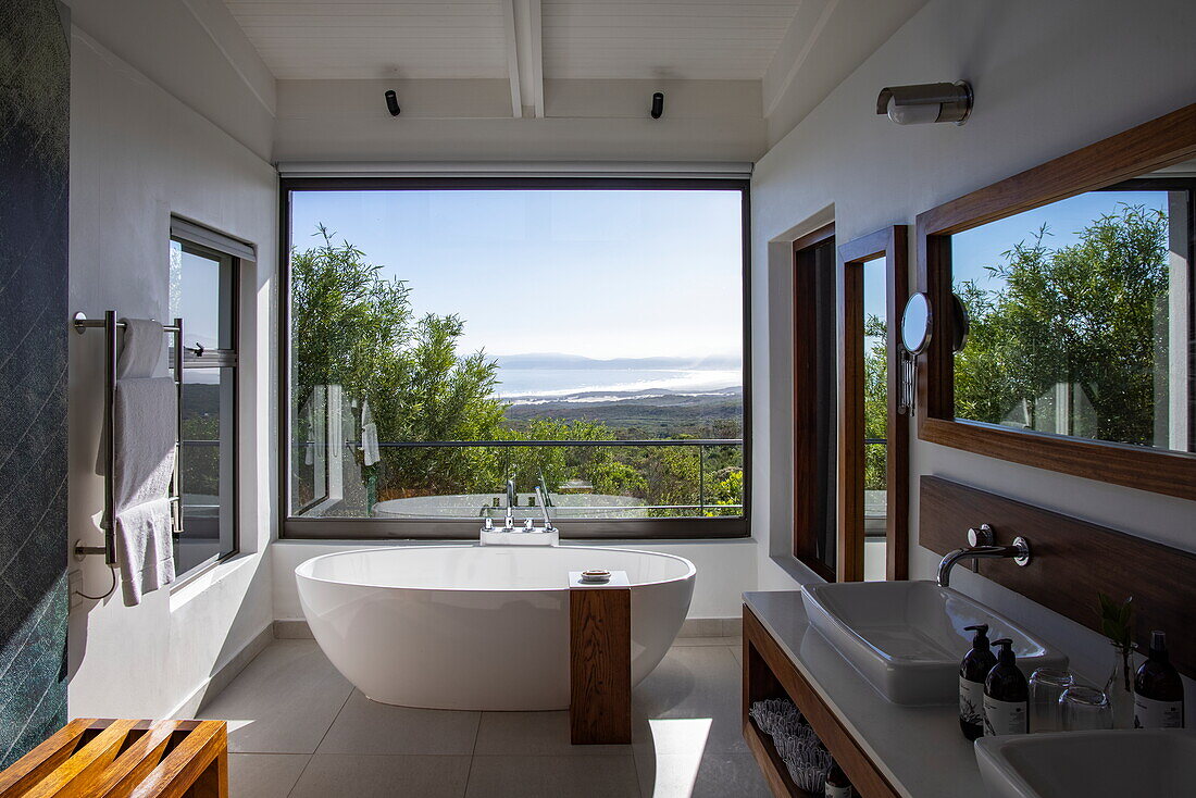
{"type": "Polygon", "coordinates": [[[991,798],[1196,796],[1196,733],[1179,729],[981,737],[991,798]]]}

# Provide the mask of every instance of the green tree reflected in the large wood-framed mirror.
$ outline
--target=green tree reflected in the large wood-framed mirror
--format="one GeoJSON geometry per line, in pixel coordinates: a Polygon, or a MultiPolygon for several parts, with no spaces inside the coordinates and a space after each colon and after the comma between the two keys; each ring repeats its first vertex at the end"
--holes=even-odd
{"type": "Polygon", "coordinates": [[[957,284],[971,330],[954,361],[956,415],[1153,445],[1167,224],[1159,209],[1122,205],[1057,248],[1044,225],[987,267],[1000,288],[957,284]]]}

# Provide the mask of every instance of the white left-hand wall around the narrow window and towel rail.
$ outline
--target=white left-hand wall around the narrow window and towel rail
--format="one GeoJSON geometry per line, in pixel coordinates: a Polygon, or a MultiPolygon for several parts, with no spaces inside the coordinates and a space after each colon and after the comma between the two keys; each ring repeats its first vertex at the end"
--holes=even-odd
{"type": "MultiPolygon", "coordinates": [[[[274,406],[269,322],[276,263],[277,178],[256,153],[75,28],[71,74],[71,312],[165,318],[170,215],[257,245],[243,274],[240,506],[243,554],[176,590],[123,605],[74,603],[69,617],[72,715],[163,717],[271,622],[266,547],[273,526],[269,474],[274,406]]],[[[66,324],[67,319],[62,319],[66,324]]],[[[96,453],[103,408],[103,335],[71,336],[71,541],[98,543],[103,508],[96,453]]],[[[72,587],[108,589],[100,558],[72,587]]],[[[194,705],[179,712],[187,714],[194,705]]]]}

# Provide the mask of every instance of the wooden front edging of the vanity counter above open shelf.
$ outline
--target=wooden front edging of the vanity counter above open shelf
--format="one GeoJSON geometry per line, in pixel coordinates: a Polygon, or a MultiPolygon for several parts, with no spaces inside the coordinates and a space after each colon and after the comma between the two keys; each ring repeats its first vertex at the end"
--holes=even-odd
{"type": "MultiPolygon", "coordinates": [[[[855,742],[855,738],[830,707],[819,698],[818,692],[798,671],[793,662],[781,651],[781,647],[756,617],[756,614],[746,605],[744,605],[744,669],[746,680],[744,683],[744,736],[749,741],[752,754],[756,755],[757,763],[768,778],[774,794],[799,797],[807,794],[801,791],[779,792],[776,782],[783,784],[783,779],[775,778],[775,774],[769,775],[776,769],[775,763],[770,763],[768,759],[762,760],[757,747],[751,745],[752,736],[749,735],[749,731],[755,732],[755,725],[746,715],[748,708],[757,698],[769,698],[768,693],[775,695],[776,690],[780,689],[798,705],[798,709],[810,721],[814,733],[822,739],[838,766],[843,768],[843,773],[850,779],[858,794],[867,796],[867,798],[897,798],[898,793],[889,784],[889,780],[872,763],[860,744],[855,742]]],[[[755,736],[759,737],[758,732],[755,736]]]]}

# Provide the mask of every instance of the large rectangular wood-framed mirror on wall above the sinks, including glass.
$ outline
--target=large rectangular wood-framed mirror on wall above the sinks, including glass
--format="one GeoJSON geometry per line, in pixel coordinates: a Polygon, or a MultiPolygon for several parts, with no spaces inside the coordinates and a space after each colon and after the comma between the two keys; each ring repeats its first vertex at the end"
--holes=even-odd
{"type": "Polygon", "coordinates": [[[920,214],[919,437],[1196,499],[1194,205],[1189,105],[920,214]]]}

